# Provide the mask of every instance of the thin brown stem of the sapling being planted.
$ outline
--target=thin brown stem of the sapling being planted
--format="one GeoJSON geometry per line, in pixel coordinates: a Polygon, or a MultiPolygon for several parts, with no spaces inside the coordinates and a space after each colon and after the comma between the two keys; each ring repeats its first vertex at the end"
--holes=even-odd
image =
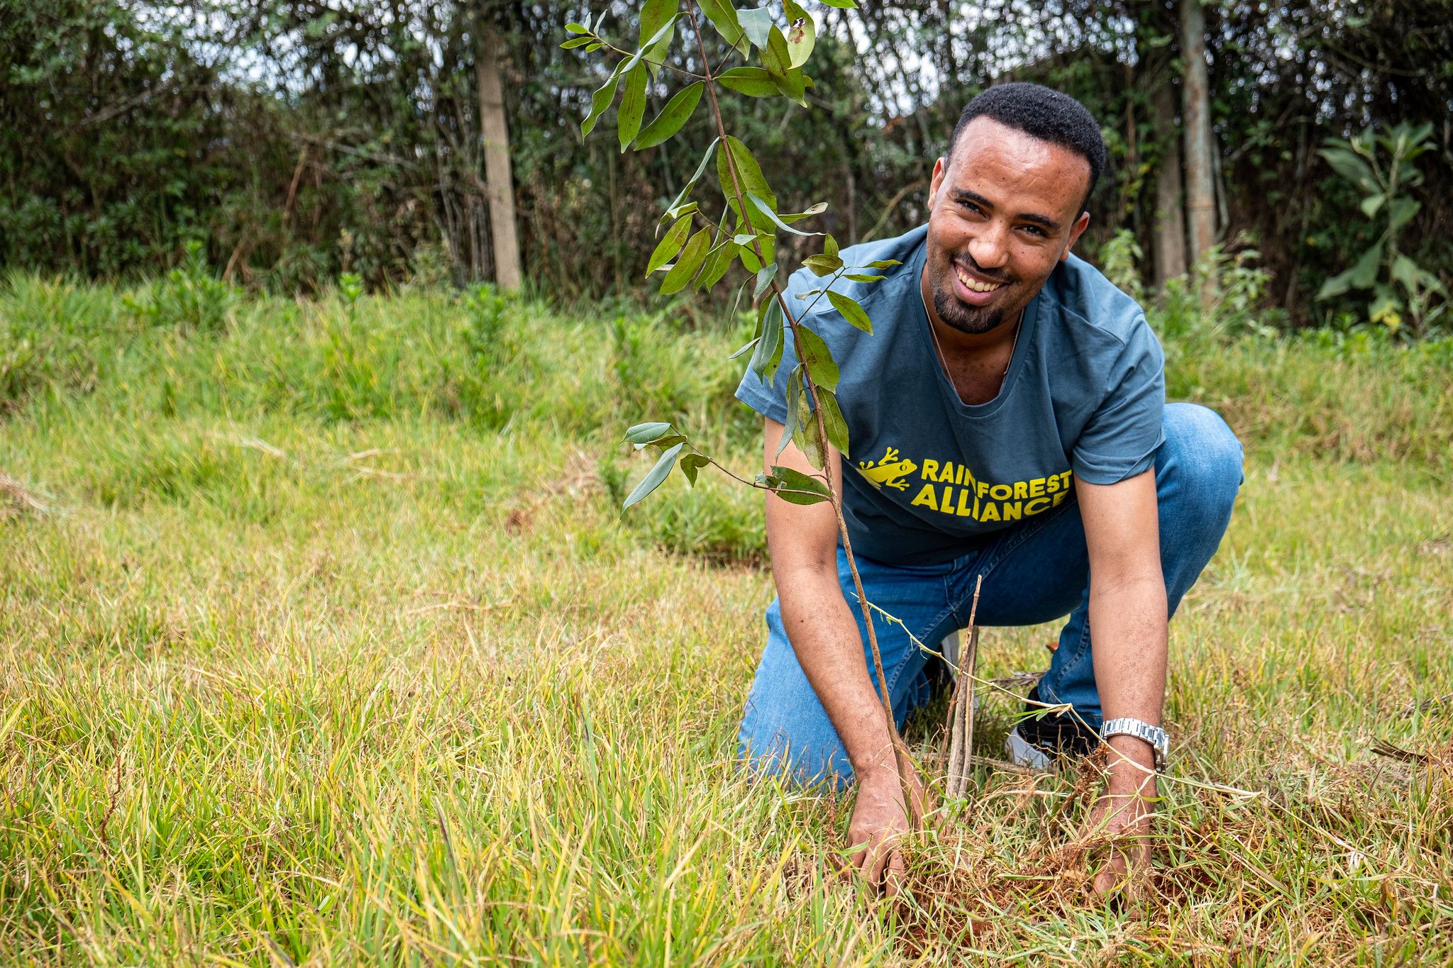
{"type": "MultiPolygon", "coordinates": [[[[686,13],[692,19],[692,30],[696,35],[696,48],[702,55],[702,70],[706,71],[703,74],[703,80],[706,81],[706,97],[711,100],[712,118],[716,120],[716,135],[721,138],[721,149],[726,152],[726,170],[731,174],[732,194],[737,197],[737,206],[745,218],[750,209],[747,208],[745,193],[741,189],[741,179],[737,173],[737,160],[732,157],[731,147],[726,142],[726,125],[722,122],[721,106],[716,102],[716,86],[713,83],[711,58],[706,54],[706,42],[702,38],[702,25],[696,17],[696,4],[689,3],[686,13]]],[[[757,254],[757,261],[761,266],[766,266],[767,260],[763,255],[761,242],[754,238],[751,245],[757,254]]],[[[786,319],[788,325],[792,328],[793,344],[801,347],[802,340],[798,332],[798,319],[788,306],[786,296],[783,295],[776,279],[772,280],[772,298],[777,300],[777,305],[782,308],[783,319],[786,319]]],[[[827,424],[822,419],[822,408],[818,405],[817,380],[812,379],[812,372],[806,360],[802,360],[802,385],[806,389],[809,402],[812,403],[812,414],[817,418],[818,446],[822,448],[822,454],[825,456],[828,453],[827,424]]],[[[847,518],[843,517],[841,496],[833,482],[833,476],[824,476],[827,477],[828,502],[833,505],[833,514],[837,518],[837,531],[843,540],[843,554],[847,559],[847,569],[853,575],[853,589],[857,592],[857,601],[866,604],[867,595],[863,594],[863,579],[857,573],[857,560],[853,556],[853,540],[847,533],[847,518]]],[[[908,756],[908,747],[904,745],[902,736],[898,734],[898,724],[894,720],[894,704],[892,697],[888,692],[888,676],[883,673],[883,657],[878,649],[878,633],[873,628],[873,615],[866,605],[862,608],[862,614],[863,625],[867,630],[867,647],[873,656],[873,673],[878,676],[878,695],[883,708],[883,720],[888,726],[888,739],[894,747],[894,768],[898,774],[898,785],[904,797],[904,810],[908,816],[908,826],[912,830],[917,830],[921,827],[923,817],[908,784],[908,776],[911,775],[910,771],[914,768],[912,760],[908,756]]]]}

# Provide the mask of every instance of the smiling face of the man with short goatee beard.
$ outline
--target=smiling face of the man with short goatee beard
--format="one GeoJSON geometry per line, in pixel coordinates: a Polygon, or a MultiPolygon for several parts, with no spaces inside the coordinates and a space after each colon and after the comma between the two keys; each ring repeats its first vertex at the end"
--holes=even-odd
{"type": "Polygon", "coordinates": [[[1019,318],[1090,223],[1090,163],[975,118],[933,167],[927,276],[939,318],[988,332],[1019,318]]]}

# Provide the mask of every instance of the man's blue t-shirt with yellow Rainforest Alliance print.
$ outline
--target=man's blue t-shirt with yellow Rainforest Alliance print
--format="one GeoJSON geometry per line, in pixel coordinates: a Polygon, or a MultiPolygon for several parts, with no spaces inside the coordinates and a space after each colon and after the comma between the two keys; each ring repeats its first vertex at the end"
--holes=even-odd
{"type": "MultiPolygon", "coordinates": [[[[1072,499],[1075,479],[1109,485],[1155,463],[1165,405],[1164,354],[1133,299],[1071,255],[1024,309],[998,396],[959,399],[934,353],[918,280],[927,226],[843,250],[863,266],[897,258],[878,283],[838,280],[873,322],[866,334],[801,270],[788,283],[799,322],[827,341],[841,369],[847,421],[843,511],[853,550],[894,565],[937,565],[995,531],[1072,499]]],[[[870,271],[870,270],[867,270],[870,271]]],[[[786,422],[792,332],[767,385],[748,367],[737,398],[786,422]]]]}

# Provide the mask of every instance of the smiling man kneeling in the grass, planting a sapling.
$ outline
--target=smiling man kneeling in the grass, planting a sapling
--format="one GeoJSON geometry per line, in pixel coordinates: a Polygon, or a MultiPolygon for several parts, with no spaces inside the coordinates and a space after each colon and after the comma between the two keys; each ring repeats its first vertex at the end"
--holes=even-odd
{"type": "MultiPolygon", "coordinates": [[[[1164,403],[1164,357],[1141,308],[1071,254],[1104,142],[1074,99],[1037,84],[991,87],[965,107],[933,170],[928,223],[843,251],[898,260],[878,283],[838,283],[872,318],[862,332],[828,300],[788,305],[830,344],[850,457],[828,456],[875,612],[899,726],[927,698],[937,643],[968,624],[1069,615],[1030,708],[1010,736],[1021,762],[1103,742],[1107,788],[1091,823],[1144,834],[1164,746],[1168,615],[1210,560],[1241,483],[1241,446],[1210,411],[1164,403]],[[1093,633],[1091,633],[1093,630],[1093,633]],[[910,639],[912,636],[912,639],[910,639]]],[[[790,334],[789,334],[790,335],[790,334]]],[[[790,348],[785,358],[790,360],[790,348]]],[[[783,366],[748,372],[737,396],[766,418],[766,463],[814,473],[777,444],[783,366]]],[[[777,601],[741,724],[761,769],[846,785],[850,840],[875,884],[901,869],[904,798],[865,660],[866,627],[828,504],[767,498],[777,601]]],[[[1117,852],[1109,890],[1149,848],[1117,852]]]]}

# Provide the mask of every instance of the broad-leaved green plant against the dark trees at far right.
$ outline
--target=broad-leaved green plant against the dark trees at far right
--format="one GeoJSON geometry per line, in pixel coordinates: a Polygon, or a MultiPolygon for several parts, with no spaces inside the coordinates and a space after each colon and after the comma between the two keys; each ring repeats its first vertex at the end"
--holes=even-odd
{"type": "Polygon", "coordinates": [[[1399,234],[1421,208],[1407,190],[1422,183],[1414,161],[1433,149],[1431,135],[1431,123],[1402,123],[1385,135],[1369,128],[1350,139],[1329,138],[1319,152],[1337,174],[1357,186],[1363,215],[1380,219],[1383,231],[1350,268],[1322,283],[1316,298],[1370,290],[1369,318],[1392,331],[1407,319],[1414,335],[1447,311],[1447,290],[1438,277],[1398,248],[1399,234]]]}

